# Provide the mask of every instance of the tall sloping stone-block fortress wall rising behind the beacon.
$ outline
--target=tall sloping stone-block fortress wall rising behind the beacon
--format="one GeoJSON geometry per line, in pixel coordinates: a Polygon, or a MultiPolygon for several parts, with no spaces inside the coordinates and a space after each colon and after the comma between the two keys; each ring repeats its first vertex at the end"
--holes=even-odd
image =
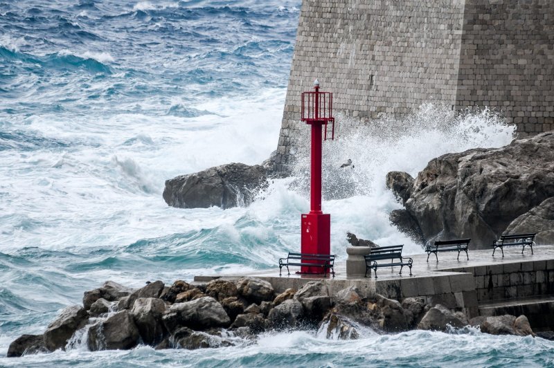
{"type": "Polygon", "coordinates": [[[521,136],[554,129],[554,1],[303,0],[276,169],[301,146],[318,78],[362,124],[429,101],[503,111],[521,136]]]}

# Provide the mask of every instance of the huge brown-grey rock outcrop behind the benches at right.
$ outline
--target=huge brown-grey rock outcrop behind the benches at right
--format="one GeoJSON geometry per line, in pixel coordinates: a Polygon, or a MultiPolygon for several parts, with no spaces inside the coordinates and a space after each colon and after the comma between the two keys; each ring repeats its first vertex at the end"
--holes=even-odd
{"type": "Polygon", "coordinates": [[[412,178],[389,172],[387,187],[404,205],[391,222],[416,241],[472,238],[489,248],[501,234],[536,232],[554,243],[554,133],[434,158],[412,178]]]}

